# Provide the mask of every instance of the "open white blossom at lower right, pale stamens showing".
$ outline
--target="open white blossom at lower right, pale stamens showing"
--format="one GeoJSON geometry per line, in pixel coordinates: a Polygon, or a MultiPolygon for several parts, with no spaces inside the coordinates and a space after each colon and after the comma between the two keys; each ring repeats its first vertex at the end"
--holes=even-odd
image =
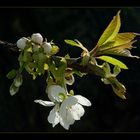
{"type": "Polygon", "coordinates": [[[82,105],[91,106],[91,102],[81,95],[68,97],[62,102],[59,111],[60,124],[65,129],[69,129],[69,125],[72,125],[75,120],[80,120],[84,115],[85,110],[82,105]]]}

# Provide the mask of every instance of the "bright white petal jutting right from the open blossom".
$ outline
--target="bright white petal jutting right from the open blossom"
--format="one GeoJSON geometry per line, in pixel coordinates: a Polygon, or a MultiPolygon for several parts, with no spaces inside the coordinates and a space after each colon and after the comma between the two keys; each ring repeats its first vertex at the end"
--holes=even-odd
{"type": "Polygon", "coordinates": [[[87,98],[85,98],[81,95],[75,95],[73,97],[78,100],[79,104],[84,105],[84,106],[91,106],[91,102],[87,98]]]}

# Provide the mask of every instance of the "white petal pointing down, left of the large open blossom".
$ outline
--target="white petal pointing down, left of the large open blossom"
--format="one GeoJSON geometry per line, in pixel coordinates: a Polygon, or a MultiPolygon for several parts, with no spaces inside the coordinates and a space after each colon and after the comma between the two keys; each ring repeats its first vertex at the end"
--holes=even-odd
{"type": "Polygon", "coordinates": [[[59,113],[57,110],[57,105],[50,111],[48,116],[48,122],[52,123],[52,126],[55,127],[59,123],[59,113]]]}

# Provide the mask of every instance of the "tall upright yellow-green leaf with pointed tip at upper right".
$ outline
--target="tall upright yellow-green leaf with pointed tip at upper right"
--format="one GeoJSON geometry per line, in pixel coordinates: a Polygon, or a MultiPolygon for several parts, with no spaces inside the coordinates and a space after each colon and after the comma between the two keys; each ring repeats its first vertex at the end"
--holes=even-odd
{"type": "Polygon", "coordinates": [[[110,22],[108,27],[105,29],[103,34],[101,35],[97,46],[101,46],[108,41],[111,41],[119,32],[121,26],[121,21],[120,21],[120,11],[118,11],[117,15],[114,16],[113,20],[110,22]]]}

